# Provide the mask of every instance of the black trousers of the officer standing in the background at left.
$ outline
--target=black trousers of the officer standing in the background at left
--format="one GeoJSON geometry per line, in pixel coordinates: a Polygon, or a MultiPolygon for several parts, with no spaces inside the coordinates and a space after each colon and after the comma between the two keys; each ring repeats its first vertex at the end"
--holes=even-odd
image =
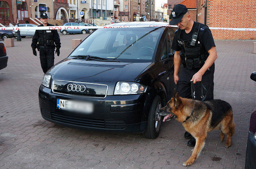
{"type": "Polygon", "coordinates": [[[54,47],[39,49],[41,67],[44,74],[54,65],[54,47]]]}

